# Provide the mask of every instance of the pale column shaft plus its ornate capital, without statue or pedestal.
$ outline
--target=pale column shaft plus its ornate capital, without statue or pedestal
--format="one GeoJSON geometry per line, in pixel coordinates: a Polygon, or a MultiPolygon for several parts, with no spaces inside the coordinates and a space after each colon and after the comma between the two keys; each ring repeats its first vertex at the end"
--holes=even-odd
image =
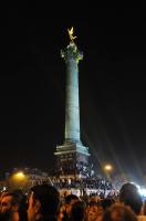
{"type": "Polygon", "coordinates": [[[66,63],[65,141],[80,141],[79,60],[83,57],[74,42],[62,56],[66,63]]]}

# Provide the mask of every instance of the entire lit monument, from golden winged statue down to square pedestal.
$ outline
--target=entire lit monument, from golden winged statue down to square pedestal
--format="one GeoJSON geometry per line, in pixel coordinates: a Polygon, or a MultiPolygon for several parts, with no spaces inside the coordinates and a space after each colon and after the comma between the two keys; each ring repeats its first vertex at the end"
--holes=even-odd
{"type": "Polygon", "coordinates": [[[61,56],[66,63],[65,140],[54,155],[61,175],[77,175],[88,166],[88,148],[80,138],[79,61],[83,54],[74,43],[73,28],[69,31],[70,44],[61,56]]]}

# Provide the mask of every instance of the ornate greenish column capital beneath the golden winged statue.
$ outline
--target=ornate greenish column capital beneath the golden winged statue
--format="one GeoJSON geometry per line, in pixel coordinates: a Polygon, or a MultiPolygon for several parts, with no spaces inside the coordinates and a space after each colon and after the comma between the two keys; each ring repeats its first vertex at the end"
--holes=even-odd
{"type": "Polygon", "coordinates": [[[79,63],[80,60],[83,60],[83,52],[80,52],[76,44],[71,41],[64,51],[61,50],[61,57],[63,57],[66,63],[70,60],[74,60],[79,63]]]}

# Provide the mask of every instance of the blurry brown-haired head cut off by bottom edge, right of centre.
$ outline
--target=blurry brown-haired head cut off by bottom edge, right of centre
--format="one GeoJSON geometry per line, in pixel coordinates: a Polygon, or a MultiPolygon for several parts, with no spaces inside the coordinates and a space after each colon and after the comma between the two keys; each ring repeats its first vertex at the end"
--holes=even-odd
{"type": "Polygon", "coordinates": [[[105,211],[103,221],[137,221],[137,217],[129,207],[115,203],[105,211]]]}

